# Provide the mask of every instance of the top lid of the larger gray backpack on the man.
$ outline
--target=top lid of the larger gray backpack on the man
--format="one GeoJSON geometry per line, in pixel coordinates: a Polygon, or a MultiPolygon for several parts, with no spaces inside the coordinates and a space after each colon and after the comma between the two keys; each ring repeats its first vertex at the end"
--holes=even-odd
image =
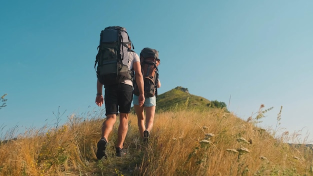
{"type": "Polygon", "coordinates": [[[119,41],[119,31],[121,36],[121,42],[128,43],[130,40],[126,28],[120,26],[105,27],[100,34],[100,43],[119,41]]]}

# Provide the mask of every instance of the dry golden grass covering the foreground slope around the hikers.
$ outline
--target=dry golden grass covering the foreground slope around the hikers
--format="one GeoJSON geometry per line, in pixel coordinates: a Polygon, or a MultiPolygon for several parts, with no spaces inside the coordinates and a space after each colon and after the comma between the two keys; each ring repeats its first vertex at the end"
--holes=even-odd
{"type": "MultiPolygon", "coordinates": [[[[124,148],[96,160],[103,112],[72,115],[58,128],[29,129],[0,144],[0,175],[312,175],[312,149],[289,145],[223,109],[175,110],[155,115],[149,143],[129,115],[124,148]]],[[[117,123],[118,124],[118,121],[117,123]]]]}

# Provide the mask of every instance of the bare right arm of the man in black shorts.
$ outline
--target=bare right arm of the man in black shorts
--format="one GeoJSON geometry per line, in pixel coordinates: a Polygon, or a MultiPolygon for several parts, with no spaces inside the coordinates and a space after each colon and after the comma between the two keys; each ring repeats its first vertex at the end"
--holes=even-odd
{"type": "Polygon", "coordinates": [[[139,89],[139,106],[143,105],[144,103],[144,90],[143,90],[143,76],[141,73],[141,65],[140,62],[136,61],[133,62],[133,69],[135,71],[135,80],[139,89]]]}

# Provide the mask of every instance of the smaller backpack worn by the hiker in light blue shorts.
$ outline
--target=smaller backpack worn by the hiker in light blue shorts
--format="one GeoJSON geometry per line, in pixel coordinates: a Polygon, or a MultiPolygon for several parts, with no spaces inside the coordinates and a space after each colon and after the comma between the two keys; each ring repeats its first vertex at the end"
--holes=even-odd
{"type": "MultiPolygon", "coordinates": [[[[149,47],[145,47],[140,52],[140,65],[144,82],[144,97],[157,96],[158,69],[160,64],[158,51],[149,47]]],[[[134,81],[135,95],[139,95],[139,89],[134,81]]]]}

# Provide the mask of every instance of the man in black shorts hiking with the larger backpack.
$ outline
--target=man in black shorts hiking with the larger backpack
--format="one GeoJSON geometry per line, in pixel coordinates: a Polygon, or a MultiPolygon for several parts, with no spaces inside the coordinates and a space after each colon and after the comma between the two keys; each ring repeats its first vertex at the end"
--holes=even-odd
{"type": "MultiPolygon", "coordinates": [[[[124,59],[122,59],[122,66],[126,65],[128,70],[134,70],[135,72],[135,80],[136,84],[138,85],[139,88],[139,97],[138,97],[138,103],[139,105],[143,105],[144,102],[144,91],[143,91],[143,76],[141,73],[141,66],[140,66],[140,59],[138,54],[136,54],[134,51],[132,51],[131,48],[131,41],[128,37],[128,34],[125,32],[125,28],[120,27],[120,26],[112,26],[112,27],[107,27],[108,31],[111,32],[111,30],[118,30],[118,38],[121,41],[118,41],[116,43],[121,44],[120,46],[117,45],[115,49],[119,51],[119,47],[122,48],[123,46],[127,46],[126,51],[123,51],[122,56],[124,56],[124,59]],[[121,30],[121,31],[120,31],[121,30]],[[123,33],[122,33],[123,32],[123,33]],[[126,39],[123,36],[126,33],[126,39]],[[128,37],[128,39],[127,39],[128,37]]],[[[106,29],[106,28],[105,28],[106,29]]],[[[104,30],[105,30],[104,29],[104,30]]],[[[101,37],[112,37],[111,35],[107,35],[105,33],[106,31],[103,32],[103,35],[101,33],[101,37]]],[[[115,31],[113,31],[115,32],[115,31]]],[[[99,46],[99,52],[100,49],[102,49],[104,53],[98,53],[98,60],[101,59],[101,54],[105,55],[106,47],[111,47],[111,46],[106,46],[105,40],[106,38],[100,40],[100,45],[101,42],[104,46],[99,46]]],[[[109,43],[109,42],[107,42],[109,43]]],[[[111,42],[110,42],[111,43],[111,42]]],[[[109,44],[110,44],[109,43],[109,44]]],[[[113,48],[114,49],[114,48],[113,48]]],[[[110,49],[112,50],[112,49],[110,49]]],[[[120,49],[121,50],[121,49],[120,49]]],[[[120,51],[122,52],[122,51],[120,51]]],[[[116,52],[114,52],[116,53],[116,52]]],[[[106,54],[107,55],[107,54],[106,54]]],[[[111,54],[110,54],[111,55],[111,54]]],[[[120,57],[121,54],[118,56],[120,57]]],[[[116,56],[115,56],[116,57],[116,56]]],[[[97,60],[96,60],[97,61],[97,60]]],[[[116,141],[116,156],[121,156],[121,152],[123,149],[123,142],[127,134],[128,130],[128,113],[130,112],[130,105],[132,101],[132,78],[123,78],[120,82],[113,82],[112,81],[107,81],[110,80],[107,77],[104,77],[102,79],[101,74],[104,75],[104,73],[101,73],[100,66],[99,66],[100,61],[98,62],[98,79],[96,83],[96,98],[95,98],[95,103],[98,106],[101,106],[103,104],[103,95],[102,95],[102,86],[104,84],[104,104],[105,104],[105,115],[106,118],[102,123],[101,127],[101,139],[97,143],[97,152],[96,152],[96,157],[97,159],[101,159],[103,156],[106,157],[105,154],[105,148],[106,148],[106,143],[108,142],[108,136],[110,132],[113,129],[113,125],[116,122],[117,114],[119,111],[119,126],[117,129],[117,141],[116,141]],[[104,83],[103,83],[104,82],[104,83]]],[[[102,63],[102,62],[101,62],[102,63]]],[[[116,65],[116,63],[115,63],[116,65]]],[[[107,65],[105,65],[107,66],[107,65]]],[[[116,67],[115,67],[116,69],[116,67]]],[[[122,73],[120,73],[122,74],[122,73]]],[[[107,74],[110,75],[110,74],[107,74]]]]}

